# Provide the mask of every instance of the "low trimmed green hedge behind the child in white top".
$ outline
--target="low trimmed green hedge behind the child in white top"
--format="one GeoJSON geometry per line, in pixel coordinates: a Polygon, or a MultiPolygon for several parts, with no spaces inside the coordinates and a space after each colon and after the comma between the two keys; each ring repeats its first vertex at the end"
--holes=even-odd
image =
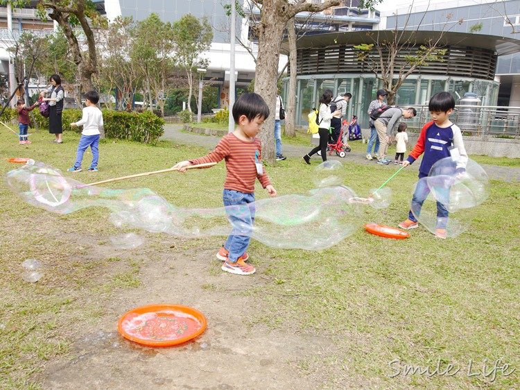
{"type": "MultiPolygon", "coordinates": [[[[145,142],[147,144],[155,144],[157,139],[164,133],[164,119],[157,117],[153,112],[125,112],[114,110],[101,110],[103,112],[103,122],[105,123],[105,137],[116,139],[130,139],[135,142],[145,142]]],[[[49,119],[42,117],[37,108],[33,120],[36,121],[38,128],[49,128],[49,119]]],[[[12,108],[6,108],[1,121],[16,121],[18,117],[17,111],[12,108]]],[[[81,110],[69,108],[63,110],[62,123],[64,131],[74,131],[81,133],[82,128],[71,128],[72,122],[81,119],[81,110]]]]}

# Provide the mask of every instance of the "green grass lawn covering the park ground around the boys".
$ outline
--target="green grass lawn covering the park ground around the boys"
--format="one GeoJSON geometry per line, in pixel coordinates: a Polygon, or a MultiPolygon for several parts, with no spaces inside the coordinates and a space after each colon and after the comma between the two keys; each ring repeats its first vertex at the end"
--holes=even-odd
{"type": "MultiPolygon", "coordinates": [[[[57,145],[51,143],[53,135],[42,131],[31,135],[33,144],[20,146],[15,135],[3,131],[3,177],[17,167],[6,162],[10,157],[33,158],[61,169],[64,176],[72,175],[66,169],[73,164],[78,135],[65,133],[64,144],[57,145]]],[[[284,142],[304,140],[309,144],[308,136],[299,134],[284,142]]],[[[353,149],[361,151],[365,146],[361,145],[352,142],[353,149]]],[[[89,183],[166,169],[206,153],[171,142],[148,146],[112,139],[102,140],[100,152],[99,171],[74,173],[74,178],[89,183]]],[[[89,158],[85,154],[83,168],[89,158]]],[[[485,163],[494,161],[501,159],[485,163]]],[[[317,164],[313,161],[308,167],[300,159],[288,159],[267,170],[279,196],[306,194],[313,188],[317,164]]],[[[360,196],[379,187],[390,172],[376,164],[346,161],[343,166],[343,183],[360,196]]],[[[201,170],[173,175],[177,173],[121,181],[110,188],[149,187],[180,207],[220,207],[223,164],[212,168],[211,174],[201,170]]],[[[404,219],[416,175],[399,173],[388,184],[390,207],[361,207],[363,219],[391,226],[404,219]]],[[[257,198],[266,197],[257,184],[257,198]]],[[[99,237],[120,232],[108,223],[105,209],[53,214],[24,203],[3,185],[0,210],[0,387],[37,389],[46,362],[71,354],[71,329],[95,323],[110,298],[140,288],[145,264],[106,255],[95,263],[78,260],[86,255],[89,241],[102,244],[99,237]],[[85,246],[67,241],[68,235],[76,234],[85,237],[85,246]],[[71,257],[76,260],[71,262],[71,257]],[[19,264],[27,258],[46,263],[42,282],[21,280],[19,264]]],[[[248,252],[257,274],[251,278],[259,282],[239,291],[256,303],[243,325],[252,331],[268,325],[306,334],[309,340],[330,340],[331,347],[317,349],[295,367],[295,375],[319,378],[318,388],[517,388],[520,184],[492,181],[491,195],[472,213],[471,228],[456,239],[439,240],[418,228],[410,239],[391,240],[358,228],[324,251],[271,248],[253,240],[248,252]],[[496,378],[484,376],[483,362],[489,373],[497,359],[509,368],[497,371],[496,378]],[[434,373],[428,378],[406,372],[408,366],[428,366],[431,373],[437,364],[441,371],[453,364],[453,375],[434,373]],[[456,368],[460,371],[454,373],[456,368]],[[512,368],[516,371],[510,373],[512,368]]],[[[187,246],[197,250],[218,242],[188,240],[187,246]]]]}

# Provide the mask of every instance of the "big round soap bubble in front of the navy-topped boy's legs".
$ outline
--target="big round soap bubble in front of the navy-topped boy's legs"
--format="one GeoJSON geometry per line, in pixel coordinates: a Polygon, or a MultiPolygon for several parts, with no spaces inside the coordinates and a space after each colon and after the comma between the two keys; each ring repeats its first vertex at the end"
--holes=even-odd
{"type": "Polygon", "coordinates": [[[443,228],[447,237],[456,237],[474,219],[471,209],[487,196],[489,180],[479,164],[469,159],[443,158],[433,164],[429,176],[416,183],[410,210],[430,232],[443,228]]]}

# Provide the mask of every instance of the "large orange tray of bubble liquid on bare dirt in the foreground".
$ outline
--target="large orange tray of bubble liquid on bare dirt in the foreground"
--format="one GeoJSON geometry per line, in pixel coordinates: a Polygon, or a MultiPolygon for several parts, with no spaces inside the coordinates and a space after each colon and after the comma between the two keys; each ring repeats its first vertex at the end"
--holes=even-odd
{"type": "Polygon", "coordinates": [[[147,305],[126,312],[117,330],[125,339],[144,346],[176,346],[198,337],[206,329],[204,314],[182,305],[147,305]]]}

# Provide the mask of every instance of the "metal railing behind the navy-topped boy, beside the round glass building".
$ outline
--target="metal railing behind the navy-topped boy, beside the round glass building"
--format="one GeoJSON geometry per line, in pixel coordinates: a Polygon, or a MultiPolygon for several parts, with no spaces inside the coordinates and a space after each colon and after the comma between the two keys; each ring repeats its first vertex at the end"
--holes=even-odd
{"type": "MultiPolygon", "coordinates": [[[[405,107],[405,106],[401,106],[405,107]]],[[[408,128],[418,129],[430,118],[428,105],[408,105],[417,110],[417,116],[406,120],[408,128]]],[[[498,105],[456,105],[450,120],[464,135],[476,137],[520,137],[520,107],[498,105]]]]}

